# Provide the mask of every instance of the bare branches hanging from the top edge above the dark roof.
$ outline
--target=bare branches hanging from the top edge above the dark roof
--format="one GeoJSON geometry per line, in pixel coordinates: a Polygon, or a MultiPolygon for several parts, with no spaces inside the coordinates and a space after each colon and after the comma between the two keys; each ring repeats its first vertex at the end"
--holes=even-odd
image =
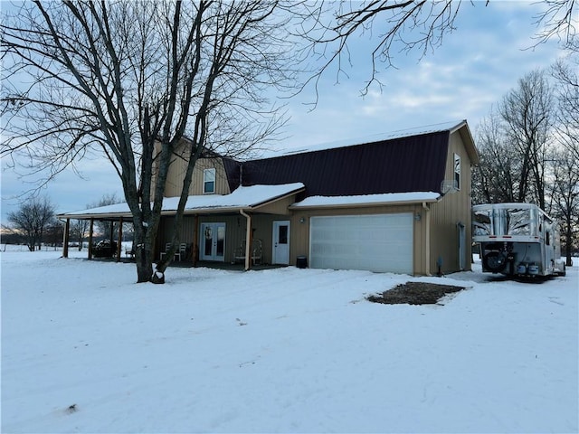
{"type": "MultiPolygon", "coordinates": [[[[360,35],[376,37],[371,49],[372,71],[363,93],[372,84],[382,86],[377,79],[378,63],[393,65],[394,52],[418,50],[422,55],[441,45],[450,33],[460,9],[453,0],[373,0],[366,2],[314,2],[302,15],[301,28],[309,45],[302,52],[305,58],[321,61],[312,80],[316,84],[321,74],[337,64],[337,81],[346,75],[344,64],[351,63],[350,43],[360,35]]],[[[317,86],[316,86],[317,87],[317,86]]]]}

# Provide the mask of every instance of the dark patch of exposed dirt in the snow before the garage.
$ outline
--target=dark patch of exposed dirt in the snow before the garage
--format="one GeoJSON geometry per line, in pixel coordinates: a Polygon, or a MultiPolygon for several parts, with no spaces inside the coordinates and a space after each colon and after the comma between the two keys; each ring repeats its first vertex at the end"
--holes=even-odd
{"type": "Polygon", "coordinates": [[[384,305],[436,305],[447,294],[459,292],[463,287],[427,282],[406,282],[382,294],[367,297],[373,303],[384,305]]]}

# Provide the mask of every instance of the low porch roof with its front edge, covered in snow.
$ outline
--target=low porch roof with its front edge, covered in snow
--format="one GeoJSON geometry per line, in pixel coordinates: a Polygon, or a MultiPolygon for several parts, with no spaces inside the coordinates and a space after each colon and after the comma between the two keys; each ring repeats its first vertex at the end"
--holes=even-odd
{"type": "MultiPolygon", "coordinates": [[[[279,185],[252,185],[239,187],[230,194],[206,194],[189,196],[185,203],[185,214],[233,212],[239,210],[252,210],[268,203],[274,203],[299,193],[305,189],[302,183],[279,184],[279,185]]],[[[166,197],[163,199],[162,215],[175,214],[178,197],[166,197]]],[[[58,214],[59,219],[88,220],[91,218],[110,220],[120,217],[130,218],[131,212],[128,203],[100,206],[76,212],[63,212],[58,214]]]]}

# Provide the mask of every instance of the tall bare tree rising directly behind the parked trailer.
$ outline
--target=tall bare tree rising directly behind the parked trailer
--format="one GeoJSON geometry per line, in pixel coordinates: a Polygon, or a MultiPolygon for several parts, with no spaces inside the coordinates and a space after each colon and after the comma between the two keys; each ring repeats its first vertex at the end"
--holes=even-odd
{"type": "Polygon", "coordinates": [[[478,127],[475,201],[532,202],[549,212],[546,174],[554,123],[555,100],[546,73],[532,71],[478,127]]]}

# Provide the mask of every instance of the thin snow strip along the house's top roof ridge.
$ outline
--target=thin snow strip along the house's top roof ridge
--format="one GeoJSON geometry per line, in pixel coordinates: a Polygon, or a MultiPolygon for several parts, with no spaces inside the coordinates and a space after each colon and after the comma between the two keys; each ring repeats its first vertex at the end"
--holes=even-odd
{"type": "MultiPolygon", "coordinates": [[[[395,131],[390,131],[387,133],[375,134],[372,136],[357,137],[357,138],[346,138],[343,140],[337,140],[328,143],[322,143],[318,145],[311,146],[299,146],[295,148],[285,149],[280,153],[276,153],[275,156],[290,156],[293,154],[301,154],[305,152],[323,151],[326,149],[334,149],[337,147],[346,146],[356,146],[365,145],[366,143],[383,142],[385,140],[393,140],[395,138],[420,136],[422,134],[431,134],[441,131],[454,131],[458,127],[461,127],[466,121],[464,120],[454,120],[450,122],[442,122],[440,124],[426,125],[422,127],[412,127],[404,128],[395,131]]],[[[271,157],[271,156],[266,156],[271,157]]]]}

